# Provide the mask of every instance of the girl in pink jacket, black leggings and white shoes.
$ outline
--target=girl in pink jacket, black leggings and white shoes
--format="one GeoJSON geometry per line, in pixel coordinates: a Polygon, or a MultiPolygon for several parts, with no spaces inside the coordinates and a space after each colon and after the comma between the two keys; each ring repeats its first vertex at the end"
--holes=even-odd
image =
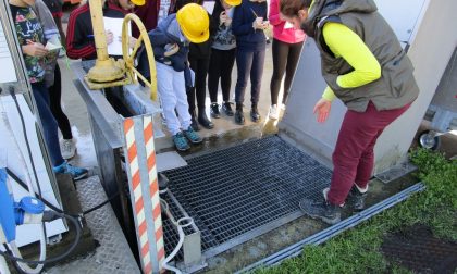
{"type": "Polygon", "coordinates": [[[285,108],[288,90],[291,89],[292,79],[306,38],[304,30],[295,28],[291,23],[281,17],[280,2],[281,0],[271,0],[268,17],[270,24],[273,25],[273,76],[270,83],[271,108],[269,114],[272,120],[277,120],[281,109],[285,108]],[[277,97],[284,72],[284,94],[282,103],[279,104],[277,97]]]}

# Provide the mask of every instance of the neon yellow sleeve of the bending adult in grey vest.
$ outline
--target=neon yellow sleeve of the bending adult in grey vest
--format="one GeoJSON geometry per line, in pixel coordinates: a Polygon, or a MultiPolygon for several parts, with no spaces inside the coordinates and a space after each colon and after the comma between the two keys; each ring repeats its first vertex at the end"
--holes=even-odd
{"type": "MultiPolygon", "coordinates": [[[[342,88],[355,88],[381,77],[381,65],[362,39],[347,26],[329,22],[322,29],[326,46],[337,58],[343,58],[354,71],[339,75],[336,84],[342,88]]],[[[335,94],[326,87],[322,98],[333,101],[335,94]]]]}

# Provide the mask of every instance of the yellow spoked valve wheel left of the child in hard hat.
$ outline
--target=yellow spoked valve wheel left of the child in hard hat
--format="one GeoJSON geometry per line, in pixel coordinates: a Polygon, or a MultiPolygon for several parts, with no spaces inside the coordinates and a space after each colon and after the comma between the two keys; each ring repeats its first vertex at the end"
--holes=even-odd
{"type": "Polygon", "coordinates": [[[122,55],[125,61],[125,67],[127,68],[127,75],[132,80],[135,80],[135,75],[140,78],[146,86],[151,90],[151,99],[157,100],[157,73],[156,73],[156,61],[153,58],[151,41],[149,40],[149,35],[146,32],[145,25],[141,23],[139,17],[133,13],[125,15],[122,24],[122,55]],[[136,40],[135,47],[133,50],[129,48],[128,40],[128,27],[131,22],[135,23],[139,30],[139,37],[136,40]],[[141,73],[138,72],[135,67],[135,57],[138,53],[138,49],[144,43],[149,63],[150,79],[147,79],[141,73]]]}

